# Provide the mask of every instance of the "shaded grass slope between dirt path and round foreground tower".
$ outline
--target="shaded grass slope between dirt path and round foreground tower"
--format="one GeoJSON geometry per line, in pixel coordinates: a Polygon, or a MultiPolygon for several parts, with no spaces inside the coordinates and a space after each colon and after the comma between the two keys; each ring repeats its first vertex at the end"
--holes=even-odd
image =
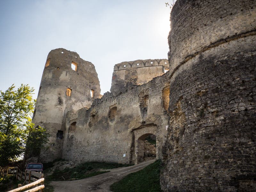
{"type": "Polygon", "coordinates": [[[110,190],[114,192],[161,192],[160,164],[160,161],[156,161],[138,172],[127,175],[122,180],[113,183],[110,190]]]}

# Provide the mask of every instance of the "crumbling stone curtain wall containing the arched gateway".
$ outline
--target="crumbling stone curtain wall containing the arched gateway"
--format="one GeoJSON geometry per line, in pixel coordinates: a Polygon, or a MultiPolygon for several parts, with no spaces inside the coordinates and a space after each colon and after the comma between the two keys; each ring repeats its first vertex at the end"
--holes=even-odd
{"type": "Polygon", "coordinates": [[[137,163],[138,138],[150,133],[156,135],[156,153],[161,158],[166,125],[169,124],[169,115],[162,103],[162,90],[166,87],[169,87],[168,76],[164,74],[147,84],[127,86],[117,96],[107,92],[95,100],[91,108],[70,112],[62,158],[76,163],[137,163]],[[140,109],[141,94],[148,96],[143,112],[140,109]],[[113,108],[116,113],[110,112],[113,108]],[[75,129],[70,126],[74,122],[75,129]]]}

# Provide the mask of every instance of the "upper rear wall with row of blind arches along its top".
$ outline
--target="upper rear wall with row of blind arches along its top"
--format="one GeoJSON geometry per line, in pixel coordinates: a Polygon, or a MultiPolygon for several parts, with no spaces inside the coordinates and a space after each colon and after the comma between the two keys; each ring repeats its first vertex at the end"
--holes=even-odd
{"type": "Polygon", "coordinates": [[[118,63],[114,66],[110,91],[118,95],[128,84],[145,84],[154,77],[161,76],[169,70],[166,59],[136,60],[118,63]]]}

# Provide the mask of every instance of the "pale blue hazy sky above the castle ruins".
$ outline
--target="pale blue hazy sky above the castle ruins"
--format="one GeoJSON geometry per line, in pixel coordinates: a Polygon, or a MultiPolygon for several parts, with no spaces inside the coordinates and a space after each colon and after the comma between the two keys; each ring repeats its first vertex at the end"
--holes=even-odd
{"type": "Polygon", "coordinates": [[[0,0],[0,90],[35,88],[46,57],[57,48],[94,64],[101,94],[110,90],[114,65],[167,59],[168,0],[0,0]]]}

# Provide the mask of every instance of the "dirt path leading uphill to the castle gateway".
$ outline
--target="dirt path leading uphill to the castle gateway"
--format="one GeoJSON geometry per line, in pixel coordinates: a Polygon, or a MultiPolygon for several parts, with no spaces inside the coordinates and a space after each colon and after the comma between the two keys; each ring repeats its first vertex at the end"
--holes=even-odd
{"type": "Polygon", "coordinates": [[[73,181],[52,181],[51,184],[54,186],[54,192],[110,192],[109,187],[114,182],[121,180],[124,176],[132,172],[137,172],[143,169],[154,161],[155,159],[144,161],[130,167],[109,169],[108,171],[110,172],[86,179],[73,181]]]}

